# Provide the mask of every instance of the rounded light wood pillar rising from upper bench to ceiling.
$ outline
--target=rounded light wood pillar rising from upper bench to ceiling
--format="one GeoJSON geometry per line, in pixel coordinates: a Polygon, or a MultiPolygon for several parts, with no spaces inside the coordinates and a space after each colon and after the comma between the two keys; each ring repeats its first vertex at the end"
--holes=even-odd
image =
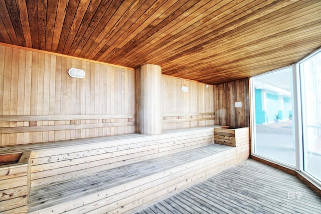
{"type": "Polygon", "coordinates": [[[135,68],[135,132],[161,134],[161,78],[158,65],[135,68]]]}

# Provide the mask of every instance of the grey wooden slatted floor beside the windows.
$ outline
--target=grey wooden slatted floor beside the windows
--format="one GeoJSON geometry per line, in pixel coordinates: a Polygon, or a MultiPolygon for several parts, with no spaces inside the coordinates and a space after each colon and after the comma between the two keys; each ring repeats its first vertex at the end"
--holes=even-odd
{"type": "Polygon", "coordinates": [[[249,159],[137,213],[321,213],[321,197],[249,159]]]}

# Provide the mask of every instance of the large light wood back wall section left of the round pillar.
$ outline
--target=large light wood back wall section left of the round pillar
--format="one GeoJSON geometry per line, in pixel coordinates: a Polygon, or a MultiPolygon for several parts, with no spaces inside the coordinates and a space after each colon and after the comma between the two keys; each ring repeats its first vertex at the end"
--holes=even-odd
{"type": "Polygon", "coordinates": [[[132,133],[133,74],[129,68],[0,45],[0,145],[132,133]],[[70,68],[84,70],[86,77],[71,78],[70,68]]]}

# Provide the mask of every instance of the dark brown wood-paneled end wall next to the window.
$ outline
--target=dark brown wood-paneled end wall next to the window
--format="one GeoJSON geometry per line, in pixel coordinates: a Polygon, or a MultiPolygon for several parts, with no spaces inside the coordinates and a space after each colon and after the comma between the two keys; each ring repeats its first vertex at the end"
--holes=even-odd
{"type": "Polygon", "coordinates": [[[231,128],[250,127],[249,79],[213,86],[215,124],[231,128]],[[235,108],[235,102],[242,102],[235,108]]]}

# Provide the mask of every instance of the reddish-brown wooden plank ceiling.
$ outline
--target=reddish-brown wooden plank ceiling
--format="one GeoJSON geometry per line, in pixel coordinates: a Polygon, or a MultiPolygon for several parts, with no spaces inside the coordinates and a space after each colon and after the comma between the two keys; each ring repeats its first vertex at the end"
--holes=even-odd
{"type": "Polygon", "coordinates": [[[290,65],[321,46],[321,1],[5,0],[0,42],[209,84],[290,65]]]}

